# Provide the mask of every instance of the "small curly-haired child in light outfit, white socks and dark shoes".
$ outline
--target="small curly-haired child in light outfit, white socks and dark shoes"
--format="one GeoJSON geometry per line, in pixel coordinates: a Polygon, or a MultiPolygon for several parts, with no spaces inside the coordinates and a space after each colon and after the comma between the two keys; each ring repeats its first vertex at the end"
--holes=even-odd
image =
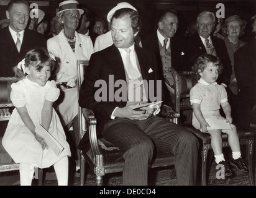
{"type": "Polygon", "coordinates": [[[225,167],[225,176],[232,176],[229,163],[222,153],[221,132],[229,136],[229,145],[232,150],[231,164],[245,173],[248,168],[241,158],[240,142],[237,129],[232,124],[231,106],[227,100],[227,92],[223,85],[218,85],[216,80],[222,72],[223,66],[216,56],[203,54],[196,59],[193,71],[198,75],[198,83],[190,90],[190,101],[193,108],[192,124],[201,132],[211,135],[211,146],[213,148],[215,161],[225,167]],[[219,113],[220,108],[224,111],[226,118],[219,113]],[[223,122],[224,121],[224,122],[223,122]],[[231,128],[221,127],[230,124],[231,128]]]}

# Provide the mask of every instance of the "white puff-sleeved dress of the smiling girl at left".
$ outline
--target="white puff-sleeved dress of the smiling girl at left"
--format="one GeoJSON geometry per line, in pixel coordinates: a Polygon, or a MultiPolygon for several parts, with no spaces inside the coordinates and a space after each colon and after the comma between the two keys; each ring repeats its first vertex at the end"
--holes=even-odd
{"type": "MultiPolygon", "coordinates": [[[[11,88],[11,100],[14,106],[25,106],[32,121],[38,124],[41,124],[43,119],[42,109],[45,100],[54,102],[60,94],[54,80],[48,81],[42,87],[26,77],[12,84],[11,88]]],[[[64,147],[59,156],[50,149],[42,149],[15,108],[2,139],[2,145],[16,163],[27,163],[39,168],[48,168],[64,156],[71,155],[65,132],[54,108],[48,132],[64,147]]]]}

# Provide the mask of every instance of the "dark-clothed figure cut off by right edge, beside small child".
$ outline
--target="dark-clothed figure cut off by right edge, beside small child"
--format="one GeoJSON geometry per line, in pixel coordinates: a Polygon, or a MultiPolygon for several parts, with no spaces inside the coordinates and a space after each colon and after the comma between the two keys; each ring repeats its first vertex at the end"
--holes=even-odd
{"type": "Polygon", "coordinates": [[[234,53],[234,71],[239,87],[237,124],[256,127],[256,38],[234,53]]]}

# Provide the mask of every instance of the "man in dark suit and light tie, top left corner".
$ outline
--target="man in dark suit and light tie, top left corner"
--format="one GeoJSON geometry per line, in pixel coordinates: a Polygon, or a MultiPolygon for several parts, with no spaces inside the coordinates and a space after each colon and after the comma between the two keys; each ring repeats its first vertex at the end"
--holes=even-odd
{"type": "Polygon", "coordinates": [[[0,76],[14,76],[12,67],[24,59],[27,51],[45,47],[45,38],[33,30],[25,29],[29,20],[29,4],[23,0],[10,1],[6,17],[9,26],[0,30],[0,76]],[[17,35],[17,33],[19,35],[17,35]],[[16,46],[19,37],[18,47],[16,46]]]}

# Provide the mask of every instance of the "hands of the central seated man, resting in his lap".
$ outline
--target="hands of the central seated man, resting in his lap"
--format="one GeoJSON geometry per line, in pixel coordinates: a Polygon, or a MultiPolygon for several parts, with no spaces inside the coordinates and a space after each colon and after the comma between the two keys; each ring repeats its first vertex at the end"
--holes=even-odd
{"type": "Polygon", "coordinates": [[[144,120],[152,116],[155,109],[149,107],[143,107],[143,109],[133,110],[137,105],[128,105],[122,108],[117,108],[114,112],[114,116],[119,118],[139,119],[144,120]]]}

